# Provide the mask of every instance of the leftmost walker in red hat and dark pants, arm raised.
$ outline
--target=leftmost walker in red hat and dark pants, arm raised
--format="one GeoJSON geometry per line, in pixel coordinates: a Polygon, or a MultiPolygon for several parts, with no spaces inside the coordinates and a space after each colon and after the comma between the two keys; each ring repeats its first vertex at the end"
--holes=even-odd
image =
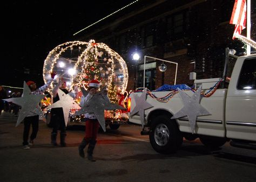
{"type": "MultiPolygon", "coordinates": [[[[49,88],[52,80],[54,79],[54,76],[56,75],[56,72],[51,73],[51,79],[48,80],[48,82],[43,85],[42,87],[37,89],[36,83],[33,81],[26,82],[26,85],[29,86],[32,95],[41,95],[45,92],[46,89],[49,88]]],[[[30,111],[30,113],[24,118],[24,131],[23,131],[23,149],[30,149],[29,145],[33,145],[33,140],[37,136],[38,131],[38,123],[39,123],[39,115],[33,113],[30,111]],[[30,125],[32,125],[32,134],[30,135],[30,142],[28,143],[29,139],[29,130],[30,125]]]]}

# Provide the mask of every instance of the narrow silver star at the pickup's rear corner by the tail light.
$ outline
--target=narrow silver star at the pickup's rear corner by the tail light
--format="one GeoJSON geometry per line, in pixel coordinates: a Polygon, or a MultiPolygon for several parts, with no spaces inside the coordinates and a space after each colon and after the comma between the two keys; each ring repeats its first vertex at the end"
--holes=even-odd
{"type": "Polygon", "coordinates": [[[135,94],[133,96],[134,96],[134,102],[136,103],[136,106],[133,108],[130,115],[133,116],[134,114],[139,112],[140,121],[142,122],[142,127],[144,128],[144,123],[145,123],[144,111],[145,109],[149,109],[153,106],[146,101],[147,89],[143,90],[143,93],[142,95],[140,95],[140,97],[135,94]]]}

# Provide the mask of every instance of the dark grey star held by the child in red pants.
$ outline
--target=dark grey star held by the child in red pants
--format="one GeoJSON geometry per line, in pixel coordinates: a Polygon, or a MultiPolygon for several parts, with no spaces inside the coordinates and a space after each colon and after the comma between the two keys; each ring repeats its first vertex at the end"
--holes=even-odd
{"type": "MultiPolygon", "coordinates": [[[[83,92],[83,91],[82,91],[83,92]]],[[[88,93],[84,90],[84,93],[88,93]]],[[[85,96],[85,95],[84,95],[85,96]]],[[[118,104],[111,103],[109,100],[104,99],[102,92],[99,92],[90,99],[86,106],[78,110],[74,116],[89,113],[95,114],[97,120],[99,121],[100,126],[104,131],[106,131],[104,110],[115,110],[115,109],[126,109],[118,104]]]]}

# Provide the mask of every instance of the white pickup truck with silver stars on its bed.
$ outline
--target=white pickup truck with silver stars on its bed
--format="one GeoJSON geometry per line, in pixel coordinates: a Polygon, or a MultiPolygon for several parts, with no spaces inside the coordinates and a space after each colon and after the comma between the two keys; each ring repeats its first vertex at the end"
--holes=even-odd
{"type": "Polygon", "coordinates": [[[194,81],[195,88],[201,88],[199,104],[209,114],[197,114],[193,131],[187,115],[194,111],[185,109],[186,116],[173,116],[185,107],[180,92],[192,98],[196,90],[147,92],[146,102],[152,107],[144,109],[144,121],[139,112],[133,112],[138,104],[134,99],[143,93],[130,94],[133,114],[130,113],[129,122],[143,125],[141,134],[149,134],[154,150],[159,153],[176,151],[183,137],[188,140],[199,137],[204,145],[211,147],[230,141],[232,146],[256,149],[256,54],[242,57],[227,54],[226,57],[227,71],[223,78],[194,81]],[[228,83],[224,79],[227,76],[230,77],[228,83]]]}

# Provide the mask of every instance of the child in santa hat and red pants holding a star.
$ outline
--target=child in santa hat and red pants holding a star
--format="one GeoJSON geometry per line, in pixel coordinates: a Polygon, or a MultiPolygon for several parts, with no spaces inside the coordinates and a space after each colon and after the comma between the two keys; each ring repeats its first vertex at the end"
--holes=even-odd
{"type": "MultiPolygon", "coordinates": [[[[93,97],[100,96],[98,93],[99,89],[99,81],[98,80],[91,80],[89,82],[89,93],[84,97],[81,97],[80,106],[85,106],[93,97]]],[[[107,96],[107,89],[103,88],[103,94],[104,99],[109,100],[109,97],[107,96]]],[[[96,160],[92,157],[93,150],[95,149],[95,145],[97,143],[97,133],[99,129],[99,122],[95,116],[95,114],[85,114],[85,137],[83,138],[83,141],[80,143],[78,150],[79,150],[79,156],[84,158],[84,148],[87,144],[89,144],[87,149],[87,159],[89,159],[92,162],[95,162],[96,160]]]]}

